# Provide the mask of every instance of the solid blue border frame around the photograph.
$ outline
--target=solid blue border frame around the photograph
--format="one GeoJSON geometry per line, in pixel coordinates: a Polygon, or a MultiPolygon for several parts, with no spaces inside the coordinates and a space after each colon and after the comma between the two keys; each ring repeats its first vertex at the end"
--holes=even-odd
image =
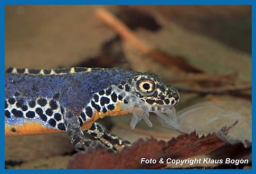
{"type": "MultiPolygon", "coordinates": [[[[1,49],[1,55],[2,55],[2,59],[0,59],[1,63],[0,63],[0,69],[1,69],[1,75],[0,75],[0,80],[1,80],[1,92],[0,92],[0,99],[1,102],[4,103],[4,57],[5,57],[5,5],[17,5],[17,4],[22,4],[22,5],[100,5],[100,4],[105,4],[105,5],[125,5],[125,4],[129,4],[129,5],[252,5],[252,29],[255,28],[254,24],[255,24],[255,8],[254,8],[254,3],[253,1],[243,1],[243,0],[210,0],[210,1],[202,1],[202,0],[194,0],[194,1],[189,1],[189,0],[185,0],[185,1],[165,1],[165,0],[144,0],[144,1],[134,1],[134,0],[123,0],[123,1],[87,1],[87,2],[81,2],[79,0],[73,0],[73,1],[49,1],[49,0],[37,0],[36,2],[31,2],[28,0],[23,0],[23,1],[18,1],[18,0],[14,0],[14,1],[6,1],[6,0],[2,0],[0,1],[0,49],[1,49]]],[[[255,54],[254,52],[254,32],[252,30],[252,56],[255,54]]],[[[252,77],[255,75],[256,70],[255,70],[255,62],[256,60],[252,59],[252,77]]],[[[254,86],[255,86],[255,81],[252,79],[252,108],[255,107],[255,101],[253,100],[254,98],[254,86]]],[[[4,104],[2,104],[3,107],[4,104]]],[[[4,110],[4,108],[2,109],[2,111],[4,110]]],[[[254,114],[254,110],[252,109],[252,115],[254,114]]],[[[4,118],[4,117],[2,117],[4,118]]],[[[253,118],[253,117],[252,117],[253,118]]],[[[4,125],[4,119],[1,120],[1,124],[4,125]]],[[[254,119],[252,119],[252,123],[254,123],[254,119]]],[[[4,137],[4,127],[1,127],[1,137],[4,137]]],[[[254,139],[254,133],[252,133],[252,138],[254,139]]],[[[183,172],[192,172],[192,173],[201,173],[201,172],[205,172],[205,170],[53,170],[53,169],[46,169],[46,170],[8,170],[8,169],[4,169],[4,141],[0,142],[0,154],[2,154],[0,156],[1,162],[0,162],[0,173],[45,173],[45,172],[54,172],[54,173],[70,173],[70,172],[76,172],[76,173],[84,173],[84,172],[93,172],[93,173],[169,173],[169,172],[178,172],[178,173],[183,173],[183,172]]],[[[254,148],[252,148],[252,157],[254,157],[255,154],[255,150],[254,148]]],[[[254,171],[254,165],[252,165],[252,169],[251,170],[224,170],[224,169],[220,169],[220,170],[207,170],[207,172],[213,173],[213,172],[221,172],[221,173],[226,173],[226,172],[235,172],[235,173],[244,173],[244,172],[255,172],[254,171]]]]}

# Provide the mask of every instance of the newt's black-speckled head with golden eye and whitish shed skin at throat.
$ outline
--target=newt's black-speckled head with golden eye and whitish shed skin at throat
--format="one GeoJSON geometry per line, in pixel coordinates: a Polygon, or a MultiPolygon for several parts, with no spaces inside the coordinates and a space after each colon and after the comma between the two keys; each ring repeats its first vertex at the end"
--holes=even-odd
{"type": "Polygon", "coordinates": [[[173,105],[179,101],[178,90],[155,73],[136,74],[126,83],[111,87],[115,93],[124,98],[124,102],[119,104],[120,108],[133,114],[131,129],[134,129],[141,119],[151,127],[149,112],[155,113],[162,120],[165,119],[166,114],[176,119],[173,105]]]}

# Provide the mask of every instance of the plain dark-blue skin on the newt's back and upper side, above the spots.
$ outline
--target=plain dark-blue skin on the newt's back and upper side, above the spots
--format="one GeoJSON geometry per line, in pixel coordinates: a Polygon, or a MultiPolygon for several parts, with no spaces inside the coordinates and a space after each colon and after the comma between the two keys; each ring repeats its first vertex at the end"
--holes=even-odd
{"type": "Polygon", "coordinates": [[[92,95],[111,85],[119,85],[141,73],[120,69],[92,69],[91,72],[65,75],[5,75],[5,98],[35,100],[38,97],[53,98],[59,93],[62,107],[80,114],[92,95]]]}

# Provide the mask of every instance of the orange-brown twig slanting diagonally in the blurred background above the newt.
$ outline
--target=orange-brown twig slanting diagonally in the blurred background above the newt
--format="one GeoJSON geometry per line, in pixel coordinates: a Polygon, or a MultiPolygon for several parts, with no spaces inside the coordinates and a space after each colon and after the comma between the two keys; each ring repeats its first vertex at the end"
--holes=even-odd
{"type": "MultiPolygon", "coordinates": [[[[216,82],[223,82],[224,76],[218,76],[218,75],[210,75],[205,73],[187,73],[184,71],[184,64],[186,62],[179,62],[174,61],[173,59],[170,59],[172,56],[167,56],[164,53],[160,51],[154,51],[152,48],[150,48],[145,43],[141,42],[136,35],[120,20],[118,20],[117,17],[112,15],[110,12],[108,12],[106,9],[100,8],[96,11],[96,15],[99,17],[101,21],[109,25],[113,30],[115,30],[124,40],[131,43],[132,46],[136,47],[141,53],[150,56],[157,62],[161,63],[164,66],[171,67],[171,70],[173,72],[176,72],[179,76],[187,77],[189,75],[189,78],[191,81],[216,81],[216,82]]],[[[192,66],[186,65],[188,69],[193,69],[192,66]]],[[[195,67],[194,70],[195,71],[195,67]]],[[[178,80],[178,79],[176,79],[178,80]]],[[[187,79],[180,79],[179,81],[186,81],[187,79]]],[[[226,82],[227,84],[232,84],[234,82],[234,79],[229,79],[229,76],[226,76],[226,82]]]]}

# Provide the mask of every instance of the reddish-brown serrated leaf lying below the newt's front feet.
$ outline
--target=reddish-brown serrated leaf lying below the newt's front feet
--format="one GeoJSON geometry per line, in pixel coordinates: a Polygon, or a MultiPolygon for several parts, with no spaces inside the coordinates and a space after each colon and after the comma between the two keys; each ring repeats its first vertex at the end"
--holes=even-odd
{"type": "Polygon", "coordinates": [[[140,164],[141,158],[156,159],[172,158],[185,159],[225,146],[215,134],[198,138],[195,132],[172,138],[168,142],[151,137],[148,140],[139,139],[122,151],[113,153],[103,148],[79,152],[69,162],[69,169],[159,169],[166,166],[160,164],[140,164]]]}

